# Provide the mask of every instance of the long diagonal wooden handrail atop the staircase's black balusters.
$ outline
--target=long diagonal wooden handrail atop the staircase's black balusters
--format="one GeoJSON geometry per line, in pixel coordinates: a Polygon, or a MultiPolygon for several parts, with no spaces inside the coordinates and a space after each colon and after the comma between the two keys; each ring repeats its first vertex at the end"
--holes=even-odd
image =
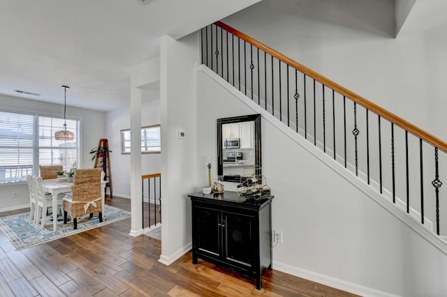
{"type": "Polygon", "coordinates": [[[225,29],[229,33],[232,33],[234,36],[237,36],[242,40],[247,41],[247,43],[250,43],[251,45],[258,47],[260,50],[263,50],[267,54],[270,54],[270,56],[274,56],[274,58],[286,63],[288,66],[291,66],[296,70],[299,70],[301,73],[304,73],[308,77],[315,79],[317,82],[320,82],[321,84],[328,86],[330,89],[337,91],[337,93],[339,93],[340,95],[345,96],[346,98],[349,98],[354,102],[357,102],[358,105],[361,105],[362,107],[369,109],[375,114],[378,114],[383,119],[386,119],[391,123],[398,125],[400,128],[410,132],[414,136],[423,139],[428,144],[431,144],[432,146],[439,148],[441,151],[444,151],[444,153],[447,153],[447,142],[444,142],[443,140],[434,137],[430,133],[416,127],[416,125],[413,125],[412,123],[409,123],[408,121],[405,121],[404,119],[400,118],[400,116],[396,116],[395,114],[388,112],[388,110],[383,109],[379,105],[376,105],[373,102],[363,98],[362,96],[359,96],[353,91],[346,89],[344,86],[341,86],[336,82],[333,82],[327,77],[324,77],[323,75],[316,73],[314,70],[307,68],[306,66],[298,63],[297,61],[290,59],[288,56],[284,56],[284,54],[281,54],[280,52],[273,50],[271,47],[268,47],[268,45],[264,45],[258,40],[251,38],[250,36],[247,36],[247,34],[237,31],[237,29],[234,29],[233,27],[228,26],[227,24],[224,24],[223,22],[220,21],[215,22],[214,24],[220,26],[222,29],[225,29]]]}

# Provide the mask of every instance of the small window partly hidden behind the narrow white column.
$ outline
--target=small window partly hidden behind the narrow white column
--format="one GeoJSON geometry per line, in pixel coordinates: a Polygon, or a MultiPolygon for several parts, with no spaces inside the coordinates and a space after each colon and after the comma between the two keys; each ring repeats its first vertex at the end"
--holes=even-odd
{"type": "MultiPolygon", "coordinates": [[[[160,153],[160,125],[141,128],[141,152],[160,153]]],[[[121,130],[121,153],[131,153],[131,130],[121,130]]]]}

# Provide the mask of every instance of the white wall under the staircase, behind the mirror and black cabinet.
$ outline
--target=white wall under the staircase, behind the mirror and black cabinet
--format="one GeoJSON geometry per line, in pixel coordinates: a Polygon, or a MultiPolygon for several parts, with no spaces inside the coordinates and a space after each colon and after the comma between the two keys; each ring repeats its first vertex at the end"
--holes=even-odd
{"type": "MultiPolygon", "coordinates": [[[[256,111],[203,72],[197,85],[203,185],[206,156],[216,162],[216,119],[256,111]]],[[[284,240],[273,250],[275,269],[362,295],[447,294],[445,254],[265,118],[261,126],[263,174],[275,195],[272,224],[284,240]]]]}

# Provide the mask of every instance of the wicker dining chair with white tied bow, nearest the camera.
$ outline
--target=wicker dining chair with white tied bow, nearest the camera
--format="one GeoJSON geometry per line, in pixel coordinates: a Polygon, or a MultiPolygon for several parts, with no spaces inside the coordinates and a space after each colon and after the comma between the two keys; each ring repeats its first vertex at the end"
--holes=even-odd
{"type": "Polygon", "coordinates": [[[103,222],[103,205],[101,201],[101,168],[77,169],[73,179],[72,195],[64,198],[64,224],[70,213],[73,229],[78,229],[78,218],[87,213],[93,218],[98,213],[99,222],[103,222]]]}

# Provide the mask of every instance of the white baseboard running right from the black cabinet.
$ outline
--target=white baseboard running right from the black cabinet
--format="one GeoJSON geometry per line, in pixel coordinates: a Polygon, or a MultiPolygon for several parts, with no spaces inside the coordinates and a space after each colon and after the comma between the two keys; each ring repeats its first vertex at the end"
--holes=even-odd
{"type": "Polygon", "coordinates": [[[353,284],[352,282],[346,282],[344,280],[339,280],[328,275],[323,275],[320,273],[315,273],[312,271],[307,271],[306,269],[294,267],[281,262],[273,261],[273,270],[281,271],[283,273],[288,273],[290,275],[295,275],[297,277],[302,277],[305,280],[312,280],[312,282],[318,282],[319,284],[325,284],[326,286],[336,288],[342,291],[347,291],[353,294],[358,294],[360,296],[374,296],[374,297],[397,297],[398,295],[390,294],[387,292],[379,291],[369,287],[360,286],[359,284],[353,284]]]}

